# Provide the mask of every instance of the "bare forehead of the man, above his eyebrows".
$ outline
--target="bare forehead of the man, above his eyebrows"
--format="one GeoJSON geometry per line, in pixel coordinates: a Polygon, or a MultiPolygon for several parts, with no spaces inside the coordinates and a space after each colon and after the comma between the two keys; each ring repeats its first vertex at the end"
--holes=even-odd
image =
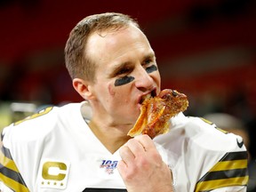
{"type": "MultiPolygon", "coordinates": [[[[152,54],[147,37],[133,25],[117,30],[94,32],[86,44],[86,54],[96,65],[127,62],[152,54]]],[[[154,52],[153,52],[154,53],[154,52]]]]}

